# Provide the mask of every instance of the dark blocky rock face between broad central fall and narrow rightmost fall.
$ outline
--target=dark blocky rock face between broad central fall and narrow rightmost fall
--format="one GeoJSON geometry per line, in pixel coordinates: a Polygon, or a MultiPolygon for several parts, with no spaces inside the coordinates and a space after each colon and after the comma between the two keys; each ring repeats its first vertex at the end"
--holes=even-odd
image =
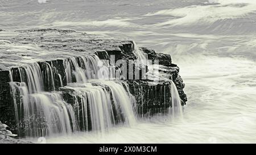
{"type": "Polygon", "coordinates": [[[168,81],[127,80],[129,91],[137,101],[139,115],[154,115],[171,106],[171,83],[168,81]]]}

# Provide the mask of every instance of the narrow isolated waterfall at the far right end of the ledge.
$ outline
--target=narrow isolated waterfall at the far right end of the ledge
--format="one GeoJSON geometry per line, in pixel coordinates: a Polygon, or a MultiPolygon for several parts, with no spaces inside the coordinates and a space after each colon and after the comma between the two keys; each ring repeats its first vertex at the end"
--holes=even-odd
{"type": "Polygon", "coordinates": [[[180,95],[177,91],[177,87],[175,86],[175,83],[170,80],[171,83],[171,98],[172,98],[172,106],[170,107],[170,113],[172,116],[179,115],[181,118],[183,117],[183,110],[180,102],[180,95]]]}

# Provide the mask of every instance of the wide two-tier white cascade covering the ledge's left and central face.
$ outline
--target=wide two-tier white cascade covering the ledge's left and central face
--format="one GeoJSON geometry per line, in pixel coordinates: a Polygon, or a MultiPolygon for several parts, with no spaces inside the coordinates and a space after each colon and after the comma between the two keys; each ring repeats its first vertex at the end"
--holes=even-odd
{"type": "Polygon", "coordinates": [[[135,123],[135,99],[125,82],[98,78],[97,56],[63,60],[67,86],[74,90],[75,104],[63,98],[55,78],[64,83],[51,62],[34,63],[10,70],[10,89],[21,136],[51,136],[55,133],[100,131],[117,123],[135,123]],[[55,76],[56,75],[56,76],[55,76]],[[14,81],[19,78],[18,82],[14,81]],[[92,81],[92,79],[94,79],[92,81]],[[20,126],[21,125],[21,126],[20,126]]]}

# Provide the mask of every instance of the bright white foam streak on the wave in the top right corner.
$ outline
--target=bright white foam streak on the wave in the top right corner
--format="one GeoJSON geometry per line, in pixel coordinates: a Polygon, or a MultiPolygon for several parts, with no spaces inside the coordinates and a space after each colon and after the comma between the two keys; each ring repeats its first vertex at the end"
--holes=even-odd
{"type": "Polygon", "coordinates": [[[186,26],[190,24],[209,24],[218,20],[243,18],[256,11],[255,1],[215,1],[216,5],[192,5],[177,9],[160,10],[152,15],[170,15],[175,19],[157,23],[155,26],[186,26]]]}

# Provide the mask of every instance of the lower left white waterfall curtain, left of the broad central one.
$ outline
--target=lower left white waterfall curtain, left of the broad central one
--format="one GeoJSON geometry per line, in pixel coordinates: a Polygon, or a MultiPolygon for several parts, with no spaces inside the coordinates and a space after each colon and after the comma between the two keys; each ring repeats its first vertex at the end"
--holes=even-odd
{"type": "Polygon", "coordinates": [[[35,118],[32,118],[32,127],[30,128],[42,130],[32,131],[32,133],[36,133],[35,136],[46,136],[48,133],[49,135],[52,133],[71,133],[75,131],[75,120],[69,118],[69,115],[74,115],[72,107],[70,104],[64,102],[60,94],[31,94],[30,102],[27,103],[26,108],[28,111],[24,110],[27,111],[24,118],[35,116],[35,118]],[[31,109],[31,107],[34,107],[34,109],[31,109]],[[34,121],[36,121],[36,123],[34,121]]]}

